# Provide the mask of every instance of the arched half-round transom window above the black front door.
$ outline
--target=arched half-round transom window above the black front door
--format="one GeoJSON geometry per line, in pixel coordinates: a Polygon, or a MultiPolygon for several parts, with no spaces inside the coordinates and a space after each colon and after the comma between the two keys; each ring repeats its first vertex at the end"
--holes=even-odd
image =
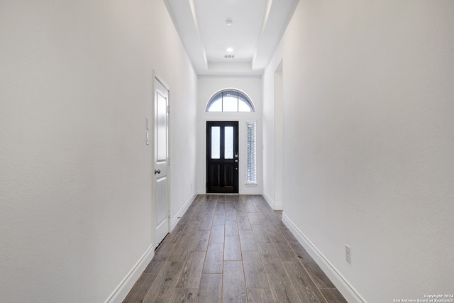
{"type": "Polygon", "coordinates": [[[255,111],[254,104],[250,99],[235,89],[226,89],[215,94],[206,111],[255,111]]]}

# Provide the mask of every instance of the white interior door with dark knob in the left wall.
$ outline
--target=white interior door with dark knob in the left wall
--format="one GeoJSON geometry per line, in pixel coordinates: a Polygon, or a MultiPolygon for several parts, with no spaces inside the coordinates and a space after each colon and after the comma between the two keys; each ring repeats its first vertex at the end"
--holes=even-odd
{"type": "Polygon", "coordinates": [[[168,111],[169,91],[155,77],[155,243],[156,246],[170,231],[168,197],[168,111]]]}

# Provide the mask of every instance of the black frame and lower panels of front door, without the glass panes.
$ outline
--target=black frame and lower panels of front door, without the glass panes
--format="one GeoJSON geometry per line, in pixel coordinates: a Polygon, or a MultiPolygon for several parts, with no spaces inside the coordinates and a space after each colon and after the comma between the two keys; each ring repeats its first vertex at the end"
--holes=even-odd
{"type": "Polygon", "coordinates": [[[206,193],[208,194],[239,193],[238,126],[238,121],[206,121],[206,193]],[[220,126],[221,130],[219,159],[211,159],[212,126],[220,126]],[[226,126],[233,126],[233,159],[224,159],[224,129],[226,126]],[[217,180],[214,180],[214,174],[217,175],[217,180]]]}

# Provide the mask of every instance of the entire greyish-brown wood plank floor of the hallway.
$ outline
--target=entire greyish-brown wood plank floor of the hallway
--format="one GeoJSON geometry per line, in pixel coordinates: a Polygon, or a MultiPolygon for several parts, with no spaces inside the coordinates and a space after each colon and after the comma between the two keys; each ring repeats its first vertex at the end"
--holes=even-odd
{"type": "Polygon", "coordinates": [[[126,302],[345,302],[261,196],[200,195],[126,302]]]}

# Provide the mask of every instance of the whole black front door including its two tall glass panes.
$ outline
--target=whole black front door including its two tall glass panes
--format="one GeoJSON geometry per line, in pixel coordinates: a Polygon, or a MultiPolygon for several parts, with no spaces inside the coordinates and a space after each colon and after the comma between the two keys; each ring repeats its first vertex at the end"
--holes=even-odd
{"type": "Polygon", "coordinates": [[[206,192],[238,194],[238,121],[206,122],[206,192]]]}

